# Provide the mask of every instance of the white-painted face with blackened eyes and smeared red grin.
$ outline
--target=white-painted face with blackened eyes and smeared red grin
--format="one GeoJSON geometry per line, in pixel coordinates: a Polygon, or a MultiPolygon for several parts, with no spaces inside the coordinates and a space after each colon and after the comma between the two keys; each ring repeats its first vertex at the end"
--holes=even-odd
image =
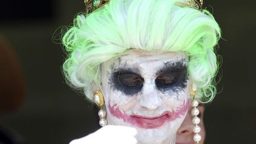
{"type": "Polygon", "coordinates": [[[131,49],[103,63],[108,124],[135,127],[139,143],[175,143],[189,106],[188,56],[131,49]]]}

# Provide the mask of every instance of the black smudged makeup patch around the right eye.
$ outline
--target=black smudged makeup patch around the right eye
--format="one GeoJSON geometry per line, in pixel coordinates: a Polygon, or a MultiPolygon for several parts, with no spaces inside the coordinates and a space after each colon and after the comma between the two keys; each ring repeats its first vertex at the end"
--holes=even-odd
{"type": "Polygon", "coordinates": [[[158,71],[155,79],[156,87],[161,91],[172,90],[178,92],[187,87],[187,65],[184,60],[175,63],[165,63],[164,68],[158,71]]]}

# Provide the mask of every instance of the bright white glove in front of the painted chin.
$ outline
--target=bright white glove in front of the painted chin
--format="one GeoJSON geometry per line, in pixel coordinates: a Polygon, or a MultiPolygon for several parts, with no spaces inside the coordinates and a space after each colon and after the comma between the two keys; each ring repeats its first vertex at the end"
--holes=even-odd
{"type": "Polygon", "coordinates": [[[81,139],[72,140],[69,144],[136,144],[137,130],[126,126],[104,126],[81,139]]]}

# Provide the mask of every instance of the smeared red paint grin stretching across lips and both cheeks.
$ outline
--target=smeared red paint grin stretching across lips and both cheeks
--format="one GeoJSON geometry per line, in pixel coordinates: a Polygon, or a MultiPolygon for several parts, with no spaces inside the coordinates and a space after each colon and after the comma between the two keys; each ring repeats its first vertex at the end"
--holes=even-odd
{"type": "Polygon", "coordinates": [[[174,121],[181,116],[183,116],[186,111],[188,110],[188,106],[190,104],[190,100],[183,101],[183,104],[181,104],[177,110],[175,111],[164,111],[160,116],[155,117],[146,117],[146,116],[138,116],[138,115],[127,115],[125,112],[121,113],[119,110],[119,107],[117,107],[117,104],[114,104],[111,106],[108,103],[108,109],[110,110],[110,113],[118,118],[123,119],[124,122],[131,123],[137,127],[140,127],[142,129],[155,129],[158,127],[161,127],[166,121],[174,121]]]}

